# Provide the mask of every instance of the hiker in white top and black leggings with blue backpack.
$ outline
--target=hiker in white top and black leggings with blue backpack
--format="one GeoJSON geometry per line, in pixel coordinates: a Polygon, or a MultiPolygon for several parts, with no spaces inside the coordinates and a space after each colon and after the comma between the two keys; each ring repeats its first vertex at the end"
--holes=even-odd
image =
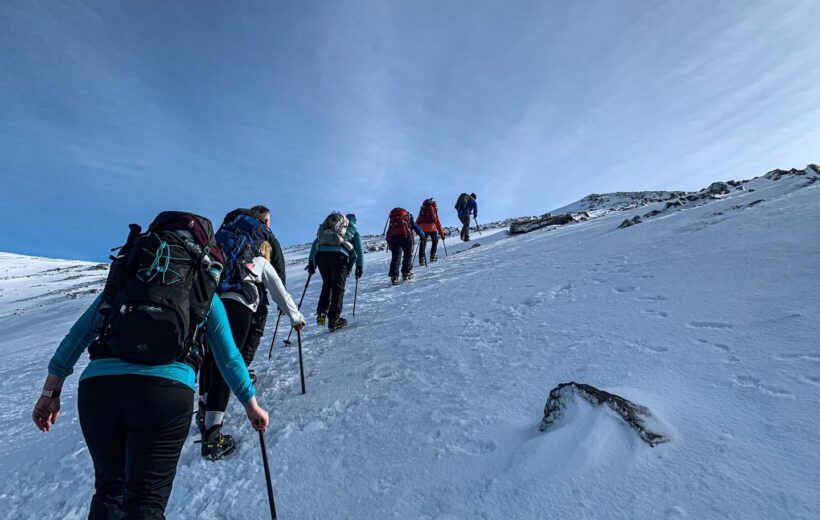
{"type": "MultiPolygon", "coordinates": [[[[297,331],[305,326],[296,303],[270,263],[272,234],[264,216],[264,213],[253,210],[232,211],[216,233],[217,244],[225,255],[225,269],[217,293],[225,305],[237,345],[246,345],[253,315],[260,302],[267,298],[266,293],[284,310],[297,331]]],[[[247,364],[248,359],[243,360],[247,364]]],[[[236,449],[233,437],[222,433],[231,393],[213,358],[206,358],[202,372],[207,391],[203,396],[204,409],[200,408],[197,413],[202,436],[201,454],[215,461],[236,449]]]]}

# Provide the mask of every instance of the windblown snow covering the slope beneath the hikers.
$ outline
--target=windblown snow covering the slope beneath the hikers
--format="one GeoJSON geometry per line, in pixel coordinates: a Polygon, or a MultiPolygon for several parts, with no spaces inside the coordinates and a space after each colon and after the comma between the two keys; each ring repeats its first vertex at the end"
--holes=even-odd
{"type": "MultiPolygon", "coordinates": [[[[485,231],[473,249],[451,239],[450,256],[395,288],[385,254],[367,255],[355,318],[349,282],[350,327],[304,334],[306,395],[287,329],[272,360],[264,346],[255,361],[280,518],[818,518],[820,182],[807,181],[761,177],[626,229],[665,204],[485,231]],[[549,391],[568,381],[648,406],[671,442],[650,448],[580,403],[540,432],[549,391]]],[[[305,273],[291,269],[298,298],[305,273]]],[[[52,432],[30,413],[104,276],[0,257],[4,518],[87,514],[82,366],[52,432]]],[[[226,431],[240,450],[211,463],[192,428],[170,518],[268,515],[257,437],[236,401],[226,431]]]]}

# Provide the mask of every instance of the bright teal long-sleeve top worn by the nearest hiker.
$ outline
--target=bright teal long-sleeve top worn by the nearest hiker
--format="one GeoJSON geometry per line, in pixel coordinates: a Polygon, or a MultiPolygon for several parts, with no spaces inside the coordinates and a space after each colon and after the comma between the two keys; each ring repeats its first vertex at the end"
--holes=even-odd
{"type": "MultiPolygon", "coordinates": [[[[57,351],[54,352],[48,364],[50,374],[65,378],[74,372],[74,365],[77,364],[77,360],[97,338],[97,331],[102,324],[102,315],[97,312],[99,304],[100,297],[98,296],[94,303],[80,316],[80,319],[74,323],[63,341],[60,342],[57,351]]],[[[256,395],[256,390],[251,383],[245,361],[242,359],[239,349],[236,348],[236,343],[234,343],[225,306],[216,296],[211,300],[206,330],[208,344],[214,354],[214,360],[219,367],[219,371],[222,372],[222,376],[225,378],[225,382],[236,394],[237,399],[242,404],[247,404],[256,395]]],[[[170,379],[196,390],[194,369],[180,361],[167,365],[141,365],[117,358],[95,359],[88,364],[88,367],[80,375],[80,381],[90,377],[125,374],[170,379]]]]}

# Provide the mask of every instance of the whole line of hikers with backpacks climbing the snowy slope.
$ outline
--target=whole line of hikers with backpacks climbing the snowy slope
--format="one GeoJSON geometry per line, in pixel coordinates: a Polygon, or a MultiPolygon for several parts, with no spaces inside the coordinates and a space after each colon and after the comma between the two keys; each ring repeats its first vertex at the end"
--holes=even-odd
{"type": "MultiPolygon", "coordinates": [[[[470,240],[476,199],[462,194],[455,205],[463,241],[470,240]]],[[[318,270],[322,278],[316,323],[331,332],[347,324],[341,311],[350,272],[355,268],[358,280],[364,271],[356,224],[352,213],[331,213],[308,258],[309,276],[318,270]]],[[[412,278],[414,233],[420,237],[419,264],[427,264],[428,238],[429,261],[437,261],[445,233],[434,199],[424,201],[415,219],[403,208],[390,212],[385,237],[393,285],[399,274],[412,278]]],[[[284,255],[264,206],[231,211],[216,233],[207,218],[163,212],[144,232],[131,224],[116,251],[104,289],[51,358],[32,419],[50,431],[60,414],[63,383],[88,350],[77,407],[94,464],[89,518],[164,518],[192,416],[201,454],[214,461],[236,449],[222,432],[231,392],[251,426],[267,429],[251,364],[264,334],[268,297],[297,334],[306,320],[301,301],[297,305],[285,288],[284,255]]]]}

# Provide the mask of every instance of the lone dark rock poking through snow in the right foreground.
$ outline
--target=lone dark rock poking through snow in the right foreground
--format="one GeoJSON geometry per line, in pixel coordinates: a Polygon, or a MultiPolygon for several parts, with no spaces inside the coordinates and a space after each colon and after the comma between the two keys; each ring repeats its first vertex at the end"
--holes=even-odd
{"type": "Polygon", "coordinates": [[[626,424],[638,432],[641,439],[652,447],[668,442],[669,436],[656,431],[653,423],[657,423],[649,408],[633,403],[621,396],[610,394],[594,386],[576,383],[562,383],[550,392],[547,404],[544,406],[544,419],[540,430],[546,431],[563,415],[567,405],[574,399],[581,398],[593,406],[607,406],[617,413],[626,424]]]}

